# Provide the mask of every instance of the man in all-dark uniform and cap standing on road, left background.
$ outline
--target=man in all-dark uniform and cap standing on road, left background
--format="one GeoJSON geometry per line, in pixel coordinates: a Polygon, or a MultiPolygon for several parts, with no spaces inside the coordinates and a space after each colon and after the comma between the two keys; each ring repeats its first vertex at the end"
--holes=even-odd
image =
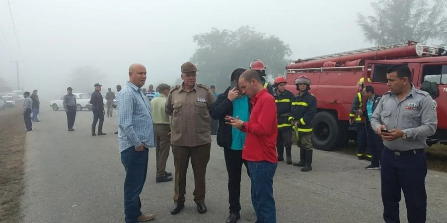
{"type": "Polygon", "coordinates": [[[102,123],[104,123],[104,101],[102,100],[101,95],[101,85],[95,84],[95,91],[91,94],[90,104],[92,105],[93,111],[93,123],[91,124],[91,135],[95,136],[96,123],[99,119],[98,124],[98,135],[105,135],[106,133],[102,132],[102,123]]]}

